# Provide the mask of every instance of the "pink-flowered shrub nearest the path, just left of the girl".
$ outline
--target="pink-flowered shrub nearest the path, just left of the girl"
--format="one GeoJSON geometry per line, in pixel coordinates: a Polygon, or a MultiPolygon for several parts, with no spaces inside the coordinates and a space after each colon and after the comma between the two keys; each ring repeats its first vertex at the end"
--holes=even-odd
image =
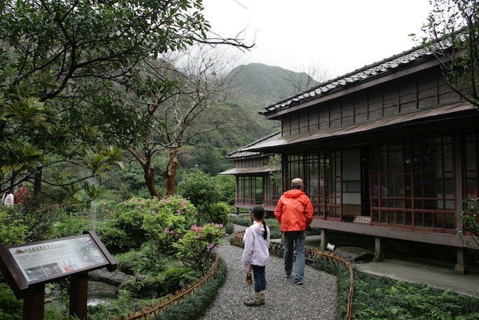
{"type": "Polygon", "coordinates": [[[210,266],[213,250],[226,236],[222,224],[192,225],[186,230],[178,242],[173,243],[177,249],[177,257],[192,269],[203,272],[210,266]]]}

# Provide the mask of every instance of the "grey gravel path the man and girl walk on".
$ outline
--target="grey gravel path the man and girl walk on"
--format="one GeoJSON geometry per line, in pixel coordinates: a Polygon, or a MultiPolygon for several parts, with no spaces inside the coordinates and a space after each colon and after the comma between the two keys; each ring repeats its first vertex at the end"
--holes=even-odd
{"type": "Polygon", "coordinates": [[[244,301],[254,295],[254,284],[246,283],[246,271],[241,265],[242,250],[230,245],[229,238],[218,247],[228,274],[213,305],[200,319],[334,319],[336,277],[307,265],[305,284],[298,286],[292,278],[285,278],[283,258],[276,256],[270,256],[266,266],[266,304],[245,306],[244,301]]]}

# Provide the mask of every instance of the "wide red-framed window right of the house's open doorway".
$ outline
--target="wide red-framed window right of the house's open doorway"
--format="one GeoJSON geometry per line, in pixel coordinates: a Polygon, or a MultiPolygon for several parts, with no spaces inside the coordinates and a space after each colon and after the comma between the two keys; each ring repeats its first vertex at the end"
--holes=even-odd
{"type": "Polygon", "coordinates": [[[370,172],[373,225],[454,233],[452,134],[378,143],[370,172]]]}

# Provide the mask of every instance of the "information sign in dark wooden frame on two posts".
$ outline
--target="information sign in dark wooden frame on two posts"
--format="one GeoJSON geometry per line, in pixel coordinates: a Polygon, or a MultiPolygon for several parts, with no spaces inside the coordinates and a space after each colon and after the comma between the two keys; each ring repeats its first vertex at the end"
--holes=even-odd
{"type": "Polygon", "coordinates": [[[88,271],[103,267],[114,271],[116,261],[94,231],[11,247],[0,244],[0,270],[16,298],[25,298],[23,319],[43,319],[44,285],[68,277],[70,315],[86,319],[88,271]]]}

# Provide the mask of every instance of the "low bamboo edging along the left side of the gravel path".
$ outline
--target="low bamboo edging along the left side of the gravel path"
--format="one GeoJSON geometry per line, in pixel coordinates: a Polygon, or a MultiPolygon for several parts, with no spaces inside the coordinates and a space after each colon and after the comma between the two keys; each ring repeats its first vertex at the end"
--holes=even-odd
{"type": "Polygon", "coordinates": [[[133,320],[133,319],[145,319],[145,320],[150,320],[152,317],[152,313],[155,315],[155,317],[158,317],[161,312],[165,312],[168,307],[178,305],[181,300],[187,298],[188,296],[192,295],[192,293],[195,293],[198,288],[203,287],[208,280],[211,280],[211,278],[214,277],[216,274],[216,270],[218,269],[218,262],[220,262],[220,257],[218,254],[216,254],[216,260],[213,263],[213,266],[209,269],[203,277],[196,282],[196,284],[192,284],[190,286],[187,286],[186,288],[181,289],[181,291],[177,291],[174,293],[174,295],[168,295],[166,297],[162,297],[159,299],[159,304],[152,303],[150,309],[146,309],[147,307],[144,306],[140,313],[138,315],[135,315],[135,312],[132,312],[128,315],[127,318],[125,317],[120,317],[116,318],[116,320],[133,320]]]}

